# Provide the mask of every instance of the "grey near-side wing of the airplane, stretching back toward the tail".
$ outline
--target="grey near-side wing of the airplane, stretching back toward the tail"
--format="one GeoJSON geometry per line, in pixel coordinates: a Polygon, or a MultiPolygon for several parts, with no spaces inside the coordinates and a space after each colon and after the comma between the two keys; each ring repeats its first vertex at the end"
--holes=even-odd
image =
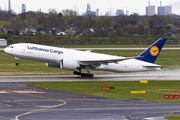
{"type": "Polygon", "coordinates": [[[134,59],[136,57],[122,57],[117,59],[91,59],[91,60],[79,60],[81,65],[100,66],[101,64],[107,65],[108,63],[118,63],[119,61],[134,59]]]}

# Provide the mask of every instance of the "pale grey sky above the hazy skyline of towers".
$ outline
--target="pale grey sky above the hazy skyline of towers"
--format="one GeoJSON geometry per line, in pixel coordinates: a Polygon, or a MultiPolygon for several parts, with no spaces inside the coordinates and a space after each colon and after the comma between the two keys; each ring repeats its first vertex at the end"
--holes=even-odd
{"type": "MultiPolygon", "coordinates": [[[[9,0],[0,0],[0,6],[2,10],[8,10],[9,0]]],[[[85,13],[87,3],[91,5],[91,11],[99,9],[99,15],[104,15],[110,10],[115,14],[117,9],[129,10],[129,14],[138,13],[145,15],[146,6],[148,6],[149,0],[11,0],[11,8],[20,13],[22,10],[22,4],[26,4],[26,11],[38,11],[41,8],[42,12],[47,13],[49,9],[56,9],[60,12],[64,9],[72,9],[78,11],[81,15],[85,13]]],[[[151,5],[157,7],[172,5],[172,12],[180,14],[180,0],[151,0],[151,5]]]]}

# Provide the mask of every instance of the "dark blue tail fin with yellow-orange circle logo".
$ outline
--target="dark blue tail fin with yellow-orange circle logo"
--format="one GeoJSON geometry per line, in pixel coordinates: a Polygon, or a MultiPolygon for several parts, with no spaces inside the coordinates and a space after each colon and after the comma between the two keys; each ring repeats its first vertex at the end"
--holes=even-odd
{"type": "Polygon", "coordinates": [[[164,46],[167,39],[160,38],[153,45],[151,45],[148,49],[142,52],[137,60],[154,63],[161,52],[162,47],[164,46]]]}

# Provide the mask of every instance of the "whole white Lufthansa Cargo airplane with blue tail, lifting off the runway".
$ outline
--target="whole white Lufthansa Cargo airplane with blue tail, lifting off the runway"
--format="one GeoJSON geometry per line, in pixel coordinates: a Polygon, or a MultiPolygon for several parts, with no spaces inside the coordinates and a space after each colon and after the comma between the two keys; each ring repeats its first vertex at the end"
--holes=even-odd
{"type": "Polygon", "coordinates": [[[161,70],[163,66],[154,64],[154,62],[165,42],[165,38],[160,38],[137,57],[105,55],[31,43],[12,44],[6,47],[4,51],[14,56],[17,60],[17,66],[19,66],[19,58],[41,61],[46,62],[48,67],[66,70],[77,69],[74,71],[75,75],[93,78],[94,75],[90,73],[90,70],[120,73],[161,70]],[[86,69],[87,73],[82,73],[82,69],[86,69]]]}

